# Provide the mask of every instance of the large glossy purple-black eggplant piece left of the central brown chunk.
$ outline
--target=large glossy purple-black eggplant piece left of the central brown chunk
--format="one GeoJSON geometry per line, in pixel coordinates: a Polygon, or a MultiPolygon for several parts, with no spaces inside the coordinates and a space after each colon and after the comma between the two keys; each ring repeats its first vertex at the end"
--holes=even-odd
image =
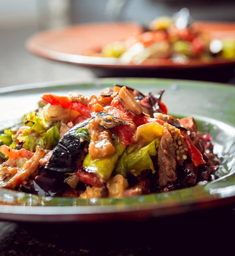
{"type": "Polygon", "coordinates": [[[46,172],[76,172],[78,169],[77,160],[81,156],[86,141],[80,141],[75,137],[79,128],[88,125],[90,119],[75,125],[68,131],[55,147],[52,156],[46,163],[46,172]]]}

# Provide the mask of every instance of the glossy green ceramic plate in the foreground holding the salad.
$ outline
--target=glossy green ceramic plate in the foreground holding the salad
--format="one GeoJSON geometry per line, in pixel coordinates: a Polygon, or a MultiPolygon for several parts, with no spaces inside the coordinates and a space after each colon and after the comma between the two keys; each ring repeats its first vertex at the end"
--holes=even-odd
{"type": "Polygon", "coordinates": [[[211,183],[188,189],[123,199],[81,200],[39,197],[0,189],[0,219],[12,221],[67,222],[143,219],[209,209],[235,203],[235,87],[199,81],[163,79],[97,79],[28,84],[0,89],[0,130],[17,122],[26,111],[37,107],[43,93],[87,96],[114,83],[144,93],[165,89],[163,101],[170,113],[194,116],[199,130],[208,131],[215,153],[223,158],[211,183]]]}

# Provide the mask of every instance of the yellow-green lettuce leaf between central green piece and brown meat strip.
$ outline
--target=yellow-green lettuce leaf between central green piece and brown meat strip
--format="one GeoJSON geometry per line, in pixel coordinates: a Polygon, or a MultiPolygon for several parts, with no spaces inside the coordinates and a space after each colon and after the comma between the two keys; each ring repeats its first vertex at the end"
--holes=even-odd
{"type": "Polygon", "coordinates": [[[115,173],[121,174],[124,177],[126,177],[126,174],[130,172],[133,172],[134,175],[140,175],[142,171],[147,169],[152,170],[154,173],[154,164],[151,157],[156,157],[156,148],[158,145],[159,139],[156,139],[147,146],[134,152],[132,151],[134,146],[129,146],[117,163],[115,173]]]}

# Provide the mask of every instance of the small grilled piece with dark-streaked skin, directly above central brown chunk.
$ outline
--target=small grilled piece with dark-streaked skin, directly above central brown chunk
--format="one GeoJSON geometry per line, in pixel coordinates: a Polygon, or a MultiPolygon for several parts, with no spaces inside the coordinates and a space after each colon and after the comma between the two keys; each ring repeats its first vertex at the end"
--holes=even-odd
{"type": "Polygon", "coordinates": [[[111,129],[120,125],[130,125],[130,122],[126,122],[122,120],[121,118],[118,118],[116,116],[112,116],[106,112],[93,112],[91,113],[92,117],[100,116],[101,121],[99,122],[99,125],[105,129],[111,129]]]}

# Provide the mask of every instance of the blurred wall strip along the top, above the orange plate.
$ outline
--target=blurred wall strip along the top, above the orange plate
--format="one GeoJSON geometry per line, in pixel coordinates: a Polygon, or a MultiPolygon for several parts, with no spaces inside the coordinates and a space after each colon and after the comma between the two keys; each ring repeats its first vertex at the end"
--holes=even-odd
{"type": "Polygon", "coordinates": [[[109,20],[146,24],[183,7],[195,20],[235,21],[234,0],[1,0],[0,28],[109,20]]]}

